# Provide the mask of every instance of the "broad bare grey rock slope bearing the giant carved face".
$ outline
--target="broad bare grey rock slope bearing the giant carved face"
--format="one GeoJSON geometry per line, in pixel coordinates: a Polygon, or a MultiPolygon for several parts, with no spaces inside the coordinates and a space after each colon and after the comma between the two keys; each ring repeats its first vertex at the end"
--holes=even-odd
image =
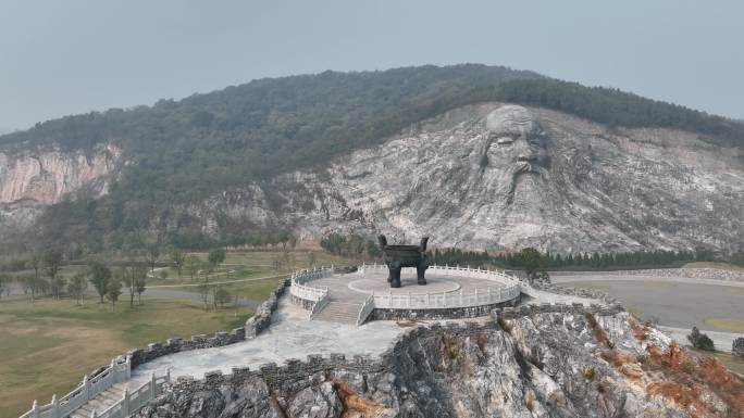
{"type": "Polygon", "coordinates": [[[327,167],[224,192],[196,212],[212,225],[288,221],[314,238],[340,229],[429,235],[439,246],[735,251],[744,246],[742,202],[740,150],[685,131],[610,129],[487,103],[327,167]]]}

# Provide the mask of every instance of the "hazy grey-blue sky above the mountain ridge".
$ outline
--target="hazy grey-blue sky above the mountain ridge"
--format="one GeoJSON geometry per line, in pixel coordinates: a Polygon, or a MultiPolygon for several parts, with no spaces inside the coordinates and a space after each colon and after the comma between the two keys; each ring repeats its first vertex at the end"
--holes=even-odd
{"type": "Polygon", "coordinates": [[[744,117],[744,1],[0,0],[0,127],[253,78],[484,63],[744,117]]]}

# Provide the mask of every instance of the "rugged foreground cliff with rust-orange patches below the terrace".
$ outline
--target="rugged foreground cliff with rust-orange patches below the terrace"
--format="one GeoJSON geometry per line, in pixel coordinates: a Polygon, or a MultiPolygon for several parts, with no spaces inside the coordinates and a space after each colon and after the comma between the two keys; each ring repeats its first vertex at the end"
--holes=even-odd
{"type": "Polygon", "coordinates": [[[419,327],[380,362],[179,379],[138,418],[739,417],[744,382],[627,313],[419,327]]]}

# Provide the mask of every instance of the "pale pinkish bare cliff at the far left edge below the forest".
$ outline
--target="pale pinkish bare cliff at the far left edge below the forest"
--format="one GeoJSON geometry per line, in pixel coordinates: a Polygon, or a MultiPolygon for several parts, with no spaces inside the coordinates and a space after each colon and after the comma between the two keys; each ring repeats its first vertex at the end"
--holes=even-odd
{"type": "Polygon", "coordinates": [[[7,223],[26,224],[39,207],[57,203],[84,186],[104,193],[104,178],[115,168],[120,155],[113,144],[90,153],[0,150],[0,215],[4,213],[7,223]]]}

